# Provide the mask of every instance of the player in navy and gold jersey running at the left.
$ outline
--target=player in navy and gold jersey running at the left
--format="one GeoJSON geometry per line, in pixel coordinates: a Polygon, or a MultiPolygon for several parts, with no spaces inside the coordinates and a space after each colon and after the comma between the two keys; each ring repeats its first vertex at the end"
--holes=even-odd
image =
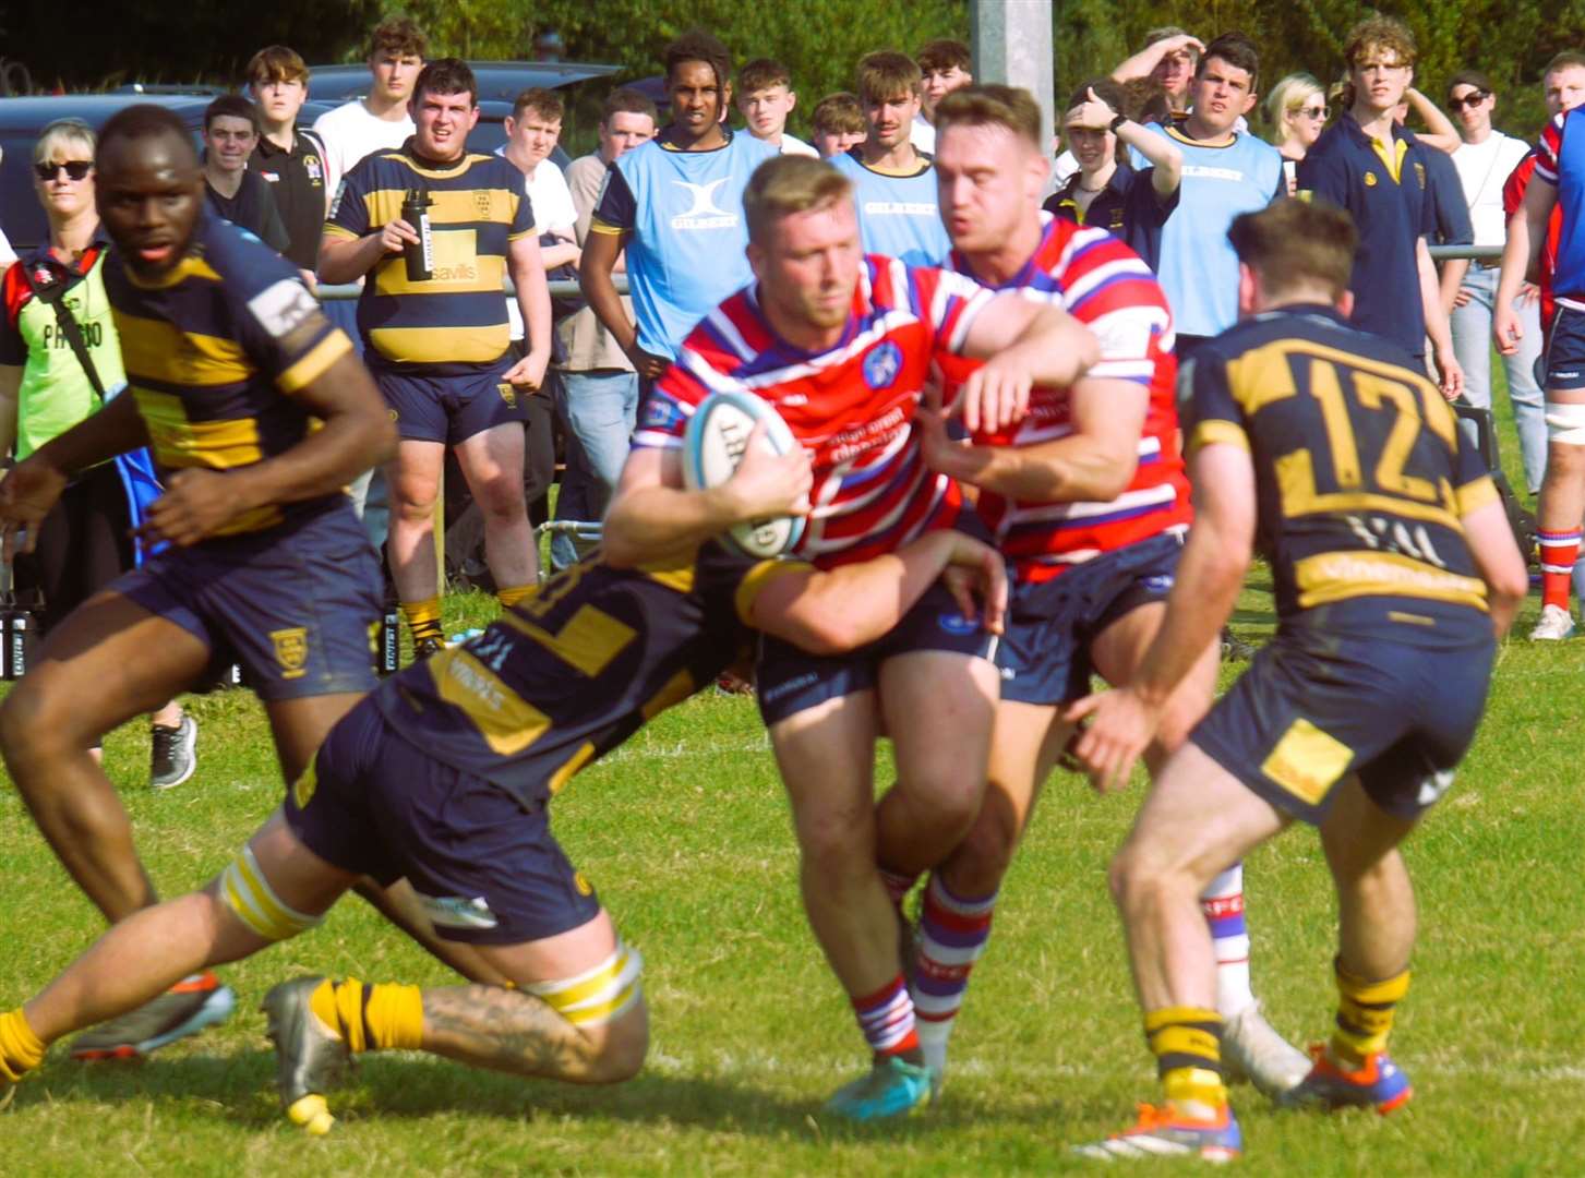
{"type": "MultiPolygon", "coordinates": [[[[51,633],[0,709],[0,742],[44,837],[116,923],[155,894],[89,748],[241,661],[285,778],[303,772],[374,687],[379,569],[342,487],[385,457],[393,431],[296,270],[203,211],[203,173],[176,116],[122,111],[95,166],[130,388],[0,484],[5,556],[32,549],[76,474],[138,446],[171,472],[143,528],[166,549],[51,633]]],[[[76,1051],[141,1054],[230,1004],[212,975],[193,978],[76,1051]]]]}

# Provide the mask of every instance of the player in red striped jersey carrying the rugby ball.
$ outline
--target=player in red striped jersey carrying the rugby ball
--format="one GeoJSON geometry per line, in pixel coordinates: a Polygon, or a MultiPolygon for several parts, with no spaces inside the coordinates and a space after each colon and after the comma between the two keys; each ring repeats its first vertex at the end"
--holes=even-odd
{"type": "MultiPolygon", "coordinates": [[[[708,499],[682,511],[667,495],[634,493],[682,485],[685,425],[718,388],[773,404],[810,450],[813,509],[796,555],[816,568],[972,522],[956,482],[919,457],[913,419],[930,368],[954,354],[994,357],[968,379],[964,417],[1005,428],[1033,382],[1064,385],[1094,360],[1094,338],[1057,306],[864,257],[851,193],[818,160],[780,157],[754,173],[743,208],[758,281],[699,323],[656,384],[607,545],[661,555],[731,523],[708,499]]],[[[941,588],[851,655],[816,658],[769,637],[761,647],[759,706],[792,802],[805,908],[873,1054],[870,1073],[832,1099],[842,1116],[894,1116],[930,1099],[877,859],[913,878],[973,823],[997,698],[991,647],[941,588]],[[899,785],[877,805],[883,728],[899,785]]]]}

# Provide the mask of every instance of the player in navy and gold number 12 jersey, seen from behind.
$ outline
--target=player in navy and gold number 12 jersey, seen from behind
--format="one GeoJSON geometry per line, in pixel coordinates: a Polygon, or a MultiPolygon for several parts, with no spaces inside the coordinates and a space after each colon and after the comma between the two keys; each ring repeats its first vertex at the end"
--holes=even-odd
{"type": "Polygon", "coordinates": [[[1113,862],[1162,1108],[1084,1146],[1224,1161],[1241,1149],[1222,1080],[1211,942],[1195,896],[1295,818],[1338,888],[1336,1029],[1284,1103],[1390,1111],[1387,1056],[1409,988],[1414,891],[1398,843],[1452,785],[1528,588],[1485,465],[1420,365],[1349,325],[1355,231],[1327,205],[1233,222],[1243,323],[1186,369],[1195,523],[1136,675],[1079,701],[1078,755],[1127,774],[1163,702],[1227,620],[1254,545],[1276,639],[1167,763],[1113,862]]]}

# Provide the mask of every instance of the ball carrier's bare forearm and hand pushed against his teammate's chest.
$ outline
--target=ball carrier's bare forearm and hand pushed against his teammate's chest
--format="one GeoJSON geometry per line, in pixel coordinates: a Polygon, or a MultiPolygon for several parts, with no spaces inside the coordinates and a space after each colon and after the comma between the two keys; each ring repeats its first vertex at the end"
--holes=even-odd
{"type": "Polygon", "coordinates": [[[1035,385],[1073,384],[1100,358],[1100,342],[1062,308],[1008,292],[975,316],[962,354],[984,360],[956,403],[973,433],[1021,420],[1035,385]]]}

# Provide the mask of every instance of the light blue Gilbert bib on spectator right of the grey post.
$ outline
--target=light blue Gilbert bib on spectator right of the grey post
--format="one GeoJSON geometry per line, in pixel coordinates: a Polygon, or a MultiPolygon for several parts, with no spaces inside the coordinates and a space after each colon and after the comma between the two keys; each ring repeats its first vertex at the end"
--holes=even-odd
{"type": "MultiPolygon", "coordinates": [[[[1190,140],[1181,125],[1149,127],[1184,155],[1178,209],[1162,225],[1157,277],[1179,335],[1214,336],[1238,322],[1238,254],[1227,239],[1233,217],[1263,209],[1287,192],[1282,155],[1235,132],[1220,147],[1190,140]]],[[[1135,168],[1151,165],[1132,151],[1135,168]]]]}

